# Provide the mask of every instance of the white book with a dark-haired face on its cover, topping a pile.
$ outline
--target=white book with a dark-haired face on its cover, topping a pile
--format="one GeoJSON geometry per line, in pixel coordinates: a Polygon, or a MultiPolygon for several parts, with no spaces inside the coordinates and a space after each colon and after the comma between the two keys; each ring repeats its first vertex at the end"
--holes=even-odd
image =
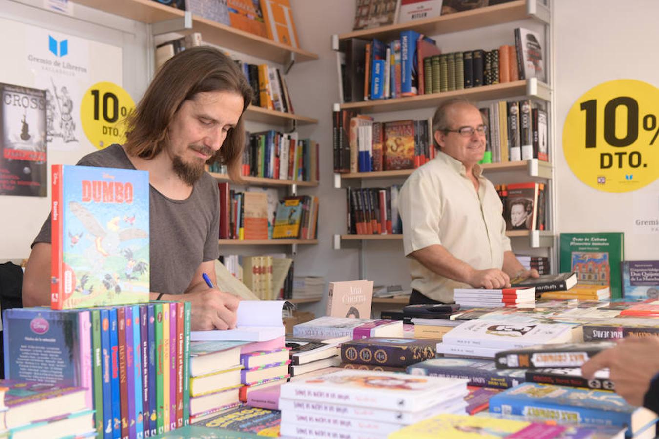
{"type": "Polygon", "coordinates": [[[568,324],[509,323],[507,321],[467,321],[442,337],[443,342],[457,346],[487,348],[523,348],[534,344],[572,342],[568,324]]]}

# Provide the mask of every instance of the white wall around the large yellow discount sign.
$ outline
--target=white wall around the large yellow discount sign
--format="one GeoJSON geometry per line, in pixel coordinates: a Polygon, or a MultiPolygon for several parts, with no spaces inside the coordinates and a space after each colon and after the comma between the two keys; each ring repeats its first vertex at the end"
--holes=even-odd
{"type": "MultiPolygon", "coordinates": [[[[625,232],[625,259],[657,259],[659,233],[635,234],[639,198],[654,202],[659,217],[659,180],[634,192],[612,194],[583,184],[563,155],[563,123],[590,88],[621,78],[659,86],[654,43],[659,39],[653,0],[554,1],[556,86],[556,185],[559,232],[625,232]],[[635,199],[636,201],[635,203],[635,199]]],[[[658,164],[652,166],[656,168],[658,164]]]]}

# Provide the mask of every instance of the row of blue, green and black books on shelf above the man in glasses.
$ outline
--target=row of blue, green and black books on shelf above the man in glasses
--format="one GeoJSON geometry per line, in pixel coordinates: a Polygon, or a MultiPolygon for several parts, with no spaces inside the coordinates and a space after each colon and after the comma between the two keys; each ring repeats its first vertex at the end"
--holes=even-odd
{"type": "Polygon", "coordinates": [[[383,42],[350,38],[338,53],[344,102],[369,101],[489,86],[527,78],[545,82],[540,36],[515,29],[515,45],[442,53],[415,30],[383,42]]]}

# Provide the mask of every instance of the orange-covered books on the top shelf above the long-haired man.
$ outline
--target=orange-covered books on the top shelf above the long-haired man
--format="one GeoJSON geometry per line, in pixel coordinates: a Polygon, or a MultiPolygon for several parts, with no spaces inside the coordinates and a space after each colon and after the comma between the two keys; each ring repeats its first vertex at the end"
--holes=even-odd
{"type": "Polygon", "coordinates": [[[153,0],[231,28],[299,47],[289,0],[153,0]]]}

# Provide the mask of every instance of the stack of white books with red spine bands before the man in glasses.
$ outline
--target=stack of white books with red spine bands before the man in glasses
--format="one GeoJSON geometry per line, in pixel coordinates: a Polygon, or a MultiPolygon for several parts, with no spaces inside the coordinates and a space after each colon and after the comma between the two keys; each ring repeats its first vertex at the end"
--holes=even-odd
{"type": "Polygon", "coordinates": [[[455,288],[455,303],[461,307],[535,307],[535,288],[455,288]]]}

